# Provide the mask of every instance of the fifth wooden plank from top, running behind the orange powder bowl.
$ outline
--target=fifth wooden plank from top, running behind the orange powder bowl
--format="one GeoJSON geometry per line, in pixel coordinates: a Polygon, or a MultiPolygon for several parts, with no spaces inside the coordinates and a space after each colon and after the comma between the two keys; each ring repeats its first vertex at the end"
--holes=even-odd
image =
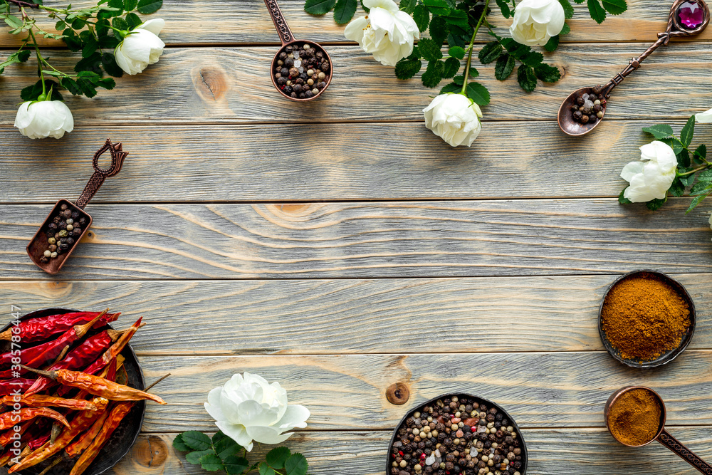
{"type": "MultiPolygon", "coordinates": [[[[144,315],[133,347],[148,356],[438,353],[453,328],[449,353],[587,351],[603,350],[598,308],[616,277],[23,281],[0,284],[0,301],[110,307],[122,311],[120,328],[144,315]]],[[[712,349],[712,276],[674,278],[697,303],[690,348],[712,349]]]]}

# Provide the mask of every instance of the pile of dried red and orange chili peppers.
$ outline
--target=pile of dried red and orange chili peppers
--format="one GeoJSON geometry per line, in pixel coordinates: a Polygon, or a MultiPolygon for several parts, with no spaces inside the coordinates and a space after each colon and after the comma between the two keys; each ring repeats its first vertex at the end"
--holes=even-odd
{"type": "Polygon", "coordinates": [[[21,320],[0,333],[0,466],[8,473],[73,461],[82,474],[135,401],[160,397],[125,384],[122,350],[141,326],[105,330],[105,310],[21,320]]]}

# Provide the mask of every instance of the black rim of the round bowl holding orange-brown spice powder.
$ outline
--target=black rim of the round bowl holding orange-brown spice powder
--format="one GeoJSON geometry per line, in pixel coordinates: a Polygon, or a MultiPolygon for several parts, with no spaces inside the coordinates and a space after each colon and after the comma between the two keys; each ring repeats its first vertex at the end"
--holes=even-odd
{"type": "Polygon", "coordinates": [[[695,313],[695,303],[693,302],[692,297],[690,296],[687,289],[684,288],[684,286],[682,286],[682,284],[676,281],[674,278],[671,278],[670,276],[658,271],[633,271],[620,276],[615,281],[613,281],[610,286],[608,286],[608,289],[601,300],[601,306],[598,308],[598,333],[599,335],[601,335],[601,341],[603,342],[604,347],[606,347],[606,350],[612,357],[614,357],[619,362],[622,362],[624,365],[630,367],[657,367],[661,365],[666,365],[667,363],[671,362],[676,357],[678,357],[680,353],[682,353],[692,341],[692,335],[694,335],[695,333],[696,323],[697,315],[695,313]],[[661,281],[664,281],[669,286],[674,288],[680,294],[680,296],[685,299],[690,308],[690,327],[687,329],[687,333],[682,337],[682,340],[680,341],[678,347],[674,350],[670,350],[669,352],[664,353],[663,355],[660,355],[655,360],[650,361],[639,361],[622,357],[620,355],[620,352],[616,350],[613,345],[611,345],[611,342],[608,340],[608,337],[603,331],[603,327],[601,325],[601,313],[603,311],[603,304],[606,302],[606,298],[608,297],[608,294],[610,293],[611,289],[614,288],[614,286],[616,286],[616,284],[620,281],[623,281],[632,276],[636,276],[638,274],[650,274],[651,276],[655,276],[661,281]]]}

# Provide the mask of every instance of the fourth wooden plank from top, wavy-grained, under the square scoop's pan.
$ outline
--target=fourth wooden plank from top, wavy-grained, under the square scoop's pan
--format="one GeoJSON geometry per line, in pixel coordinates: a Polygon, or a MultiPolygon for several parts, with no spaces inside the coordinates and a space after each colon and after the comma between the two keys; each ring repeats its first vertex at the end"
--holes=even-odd
{"type": "MultiPolygon", "coordinates": [[[[102,192],[110,194],[110,180],[102,192]]],[[[113,185],[115,186],[115,185],[113,185]]],[[[706,214],[614,199],[88,207],[66,279],[533,276],[709,272],[706,214]]],[[[46,205],[6,206],[1,278],[47,275],[25,246],[46,205]]]]}

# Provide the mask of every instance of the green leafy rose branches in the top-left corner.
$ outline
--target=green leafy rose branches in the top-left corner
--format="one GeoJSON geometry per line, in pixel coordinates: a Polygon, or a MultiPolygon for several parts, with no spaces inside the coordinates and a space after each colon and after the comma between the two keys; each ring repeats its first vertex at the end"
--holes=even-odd
{"type": "Polygon", "coordinates": [[[0,63],[0,74],[6,66],[24,63],[34,52],[38,62],[40,79],[34,85],[21,91],[23,100],[38,100],[50,94],[51,100],[62,100],[59,89],[68,90],[73,95],[93,98],[98,88],[112,89],[115,78],[123,75],[117,65],[114,49],[123,38],[142,24],[139,14],[152,14],[162,6],[162,0],[100,0],[95,6],[74,9],[53,8],[42,4],[41,0],[18,1],[0,0],[0,19],[15,35],[25,34],[20,48],[0,63]],[[14,8],[19,13],[14,13],[14,8]],[[38,10],[55,21],[54,29],[47,31],[31,16],[38,10]],[[73,71],[62,71],[51,63],[39,50],[37,36],[63,41],[70,51],[80,53],[73,71]],[[107,77],[109,76],[109,77],[107,77]]]}

